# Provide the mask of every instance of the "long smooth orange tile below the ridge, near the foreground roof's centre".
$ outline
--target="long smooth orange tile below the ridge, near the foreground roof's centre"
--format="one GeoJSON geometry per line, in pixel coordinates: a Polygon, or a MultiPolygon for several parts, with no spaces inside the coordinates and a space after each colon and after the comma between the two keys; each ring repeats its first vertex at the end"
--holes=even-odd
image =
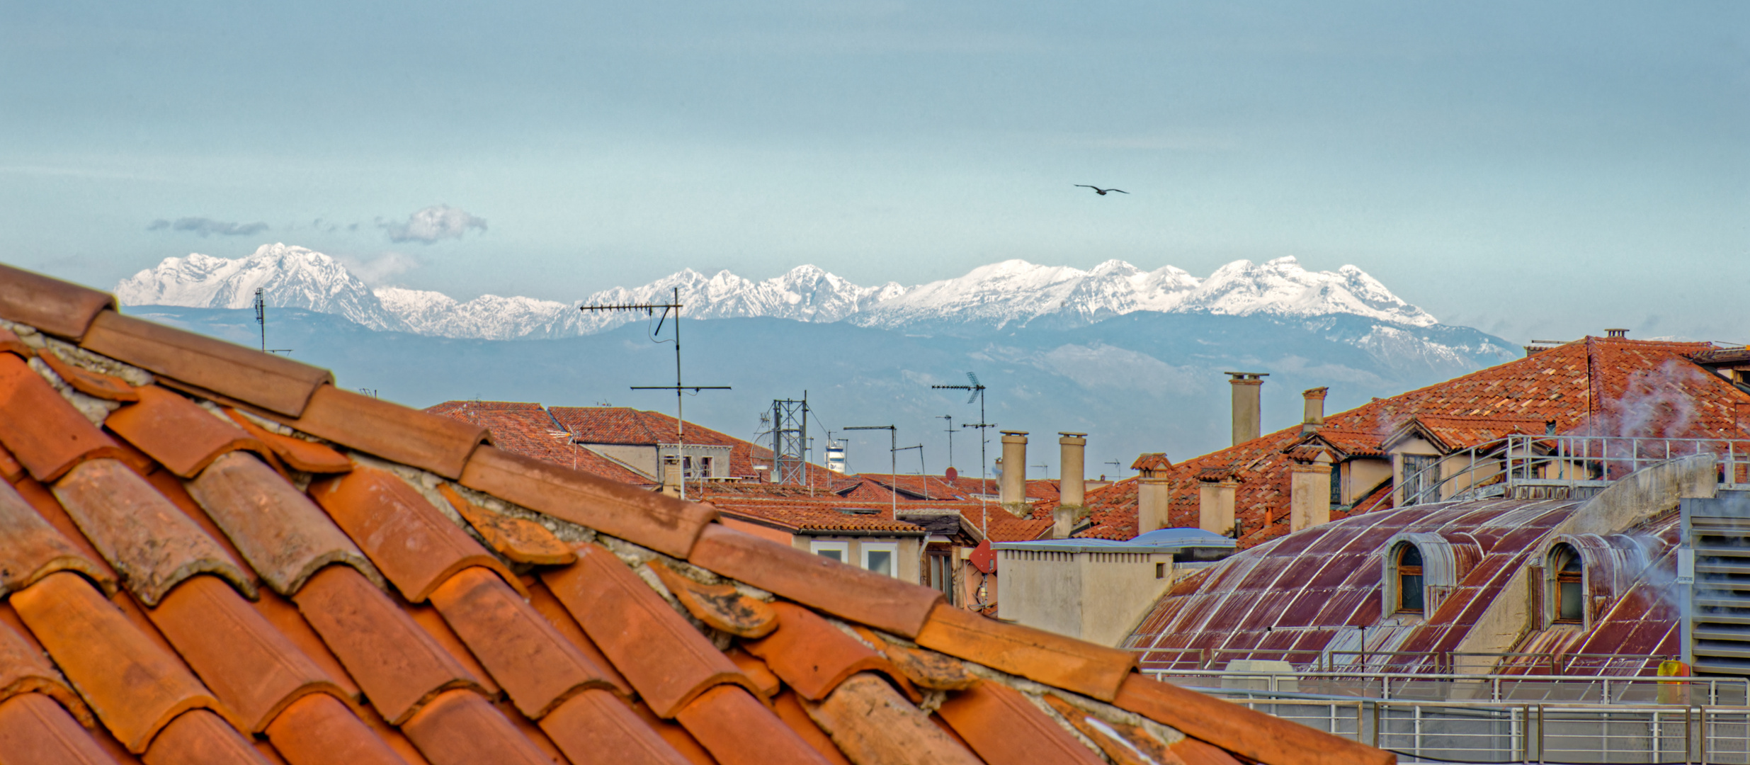
{"type": "Polygon", "coordinates": [[[752,686],[728,656],[606,548],[584,544],[578,548],[576,564],[546,571],[542,579],[656,714],[672,718],[719,683],[752,686]]]}

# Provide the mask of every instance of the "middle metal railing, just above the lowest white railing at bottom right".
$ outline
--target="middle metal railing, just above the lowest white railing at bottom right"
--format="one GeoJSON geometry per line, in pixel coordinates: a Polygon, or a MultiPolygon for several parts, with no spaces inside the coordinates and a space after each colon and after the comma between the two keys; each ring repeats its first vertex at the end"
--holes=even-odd
{"type": "Polygon", "coordinates": [[[1416,702],[1561,702],[1598,705],[1746,705],[1746,677],[1608,677],[1432,672],[1171,670],[1144,674],[1209,693],[1316,695],[1416,702]]]}

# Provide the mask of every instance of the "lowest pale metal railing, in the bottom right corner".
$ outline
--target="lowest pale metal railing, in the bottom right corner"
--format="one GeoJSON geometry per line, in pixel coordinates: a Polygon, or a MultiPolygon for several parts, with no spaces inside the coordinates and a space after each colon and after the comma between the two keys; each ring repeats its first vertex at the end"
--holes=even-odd
{"type": "Polygon", "coordinates": [[[1743,707],[1227,698],[1400,761],[1750,763],[1743,707]]]}

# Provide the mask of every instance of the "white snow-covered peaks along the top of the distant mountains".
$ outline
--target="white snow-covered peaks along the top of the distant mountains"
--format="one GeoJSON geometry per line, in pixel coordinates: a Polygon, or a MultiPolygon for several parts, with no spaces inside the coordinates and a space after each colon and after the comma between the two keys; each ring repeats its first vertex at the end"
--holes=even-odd
{"type": "Polygon", "coordinates": [[[371,289],[320,252],[284,243],[248,257],[203,254],[166,257],[116,285],[122,305],[248,308],[256,289],[268,305],[336,313],[371,329],[483,340],[550,340],[607,331],[635,320],[621,312],[579,312],[579,305],[649,303],[681,291],[690,319],[772,317],[849,322],[864,327],[914,326],[1085,326],[1134,312],[1269,315],[1311,319],[1354,315],[1396,326],[1430,327],[1435,319],[1388,291],[1356,266],[1307,271],[1293,257],[1234,261],[1209,278],[1162,266],[1143,271],[1124,261],[1092,270],[1003,261],[964,277],[901,287],[861,287],[816,266],[749,280],[730,271],[705,277],[682,270],[642,287],[614,287],[576,303],[480,296],[457,301],[443,292],[371,289]]]}

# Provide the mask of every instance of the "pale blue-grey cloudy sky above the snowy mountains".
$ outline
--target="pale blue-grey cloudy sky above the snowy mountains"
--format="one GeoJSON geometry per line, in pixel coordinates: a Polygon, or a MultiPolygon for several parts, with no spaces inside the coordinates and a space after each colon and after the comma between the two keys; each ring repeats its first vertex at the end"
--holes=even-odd
{"type": "Polygon", "coordinates": [[[0,259],[1356,264],[1508,340],[1750,341],[1745,2],[0,0],[0,259]],[[1074,184],[1118,187],[1096,196],[1074,184]]]}

